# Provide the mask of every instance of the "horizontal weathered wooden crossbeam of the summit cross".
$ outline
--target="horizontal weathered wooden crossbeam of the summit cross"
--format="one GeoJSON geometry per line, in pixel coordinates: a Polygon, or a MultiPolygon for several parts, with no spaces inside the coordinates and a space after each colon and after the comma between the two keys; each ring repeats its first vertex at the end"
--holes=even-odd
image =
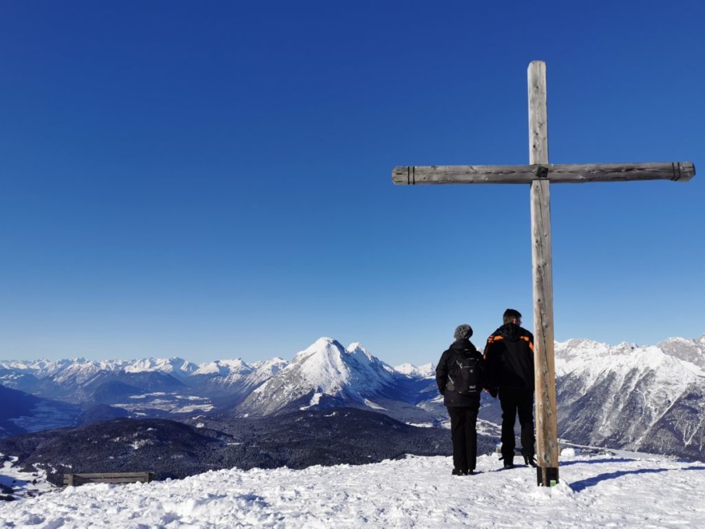
{"type": "Polygon", "coordinates": [[[695,176],[692,162],[654,164],[534,164],[534,165],[429,165],[399,166],[392,181],[399,186],[427,183],[551,183],[673,180],[687,182],[695,176]]]}

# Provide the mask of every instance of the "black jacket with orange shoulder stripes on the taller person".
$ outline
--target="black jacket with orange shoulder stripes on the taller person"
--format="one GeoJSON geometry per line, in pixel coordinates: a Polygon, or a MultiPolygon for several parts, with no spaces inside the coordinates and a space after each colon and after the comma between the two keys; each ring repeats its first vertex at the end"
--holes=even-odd
{"type": "Polygon", "coordinates": [[[487,339],[484,349],[488,387],[534,389],[534,335],[506,323],[487,339]]]}

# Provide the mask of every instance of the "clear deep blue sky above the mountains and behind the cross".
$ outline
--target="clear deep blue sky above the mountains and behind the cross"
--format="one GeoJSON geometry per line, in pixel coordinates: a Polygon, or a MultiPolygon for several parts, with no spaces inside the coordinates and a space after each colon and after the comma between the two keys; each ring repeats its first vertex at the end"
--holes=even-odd
{"type": "MultiPolygon", "coordinates": [[[[529,188],[397,165],[705,171],[700,1],[0,3],[0,358],[435,362],[533,329],[529,188]]],[[[556,339],[705,332],[705,174],[551,186],[556,339]]]]}

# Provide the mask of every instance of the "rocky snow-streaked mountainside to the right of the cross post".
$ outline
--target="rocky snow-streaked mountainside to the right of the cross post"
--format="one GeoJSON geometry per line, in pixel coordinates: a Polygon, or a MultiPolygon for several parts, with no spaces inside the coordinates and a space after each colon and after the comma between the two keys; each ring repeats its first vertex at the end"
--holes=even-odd
{"type": "Polygon", "coordinates": [[[693,343],[556,343],[559,434],[583,444],[700,456],[705,369],[682,359],[699,361],[693,343]]]}

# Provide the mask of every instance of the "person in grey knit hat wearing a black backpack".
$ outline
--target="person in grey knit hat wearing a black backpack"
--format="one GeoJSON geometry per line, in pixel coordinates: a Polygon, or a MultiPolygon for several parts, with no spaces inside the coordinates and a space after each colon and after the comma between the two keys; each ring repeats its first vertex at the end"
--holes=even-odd
{"type": "Polygon", "coordinates": [[[450,415],[453,475],[472,475],[477,460],[477,412],[484,387],[482,355],[470,341],[470,325],[458,325],[455,341],[436,366],[436,384],[450,415]]]}

